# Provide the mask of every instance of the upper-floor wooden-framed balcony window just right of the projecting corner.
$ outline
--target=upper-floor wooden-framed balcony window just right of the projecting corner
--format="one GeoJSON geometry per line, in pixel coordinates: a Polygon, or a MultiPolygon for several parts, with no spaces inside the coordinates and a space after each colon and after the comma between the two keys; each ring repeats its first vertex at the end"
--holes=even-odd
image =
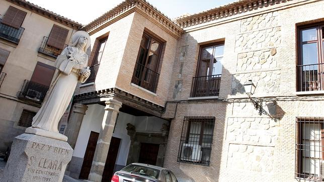
{"type": "Polygon", "coordinates": [[[193,77],[190,97],[219,95],[223,54],[223,41],[200,48],[196,77],[193,77]]]}

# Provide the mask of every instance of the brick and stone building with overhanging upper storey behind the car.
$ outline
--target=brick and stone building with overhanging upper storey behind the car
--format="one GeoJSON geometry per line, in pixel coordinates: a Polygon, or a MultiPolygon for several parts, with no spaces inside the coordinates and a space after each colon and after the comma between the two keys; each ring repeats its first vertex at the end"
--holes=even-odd
{"type": "Polygon", "coordinates": [[[323,15],[318,0],[244,0],[171,21],[124,1],[82,28],[92,77],[73,98],[66,174],[144,162],[179,181],[321,181],[323,15]]]}

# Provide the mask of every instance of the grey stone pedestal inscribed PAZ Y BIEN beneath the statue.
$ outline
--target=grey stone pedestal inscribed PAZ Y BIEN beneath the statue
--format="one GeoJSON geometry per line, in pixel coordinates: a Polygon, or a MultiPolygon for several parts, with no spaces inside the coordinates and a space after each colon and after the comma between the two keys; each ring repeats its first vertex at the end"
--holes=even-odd
{"type": "Polygon", "coordinates": [[[72,153],[67,142],[24,133],[14,139],[1,181],[62,181],[72,153]]]}

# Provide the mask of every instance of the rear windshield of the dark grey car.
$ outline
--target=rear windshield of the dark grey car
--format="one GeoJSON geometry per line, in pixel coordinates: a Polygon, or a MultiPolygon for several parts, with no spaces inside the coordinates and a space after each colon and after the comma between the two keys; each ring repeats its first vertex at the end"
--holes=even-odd
{"type": "Polygon", "coordinates": [[[158,169],[154,169],[154,168],[151,168],[148,166],[143,166],[143,165],[136,165],[136,164],[127,165],[122,170],[133,173],[133,174],[148,176],[148,177],[155,178],[155,179],[158,178],[158,175],[160,173],[160,171],[158,169]]]}

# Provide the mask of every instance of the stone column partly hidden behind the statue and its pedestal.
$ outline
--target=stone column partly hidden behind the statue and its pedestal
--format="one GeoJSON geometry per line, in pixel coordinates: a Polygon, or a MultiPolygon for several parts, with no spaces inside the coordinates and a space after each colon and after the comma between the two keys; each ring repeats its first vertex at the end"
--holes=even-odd
{"type": "Polygon", "coordinates": [[[67,143],[73,149],[75,147],[76,139],[87,109],[88,106],[83,104],[74,104],[72,107],[72,113],[67,124],[65,136],[67,136],[67,143]]]}

